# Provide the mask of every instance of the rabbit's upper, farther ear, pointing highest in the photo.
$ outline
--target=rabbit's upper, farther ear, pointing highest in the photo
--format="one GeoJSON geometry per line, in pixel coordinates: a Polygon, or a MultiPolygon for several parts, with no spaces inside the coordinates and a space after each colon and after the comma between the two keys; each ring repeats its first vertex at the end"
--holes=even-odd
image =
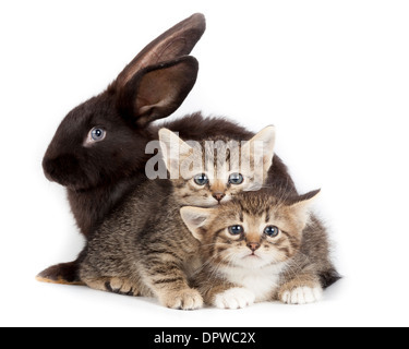
{"type": "Polygon", "coordinates": [[[122,88],[141,70],[149,65],[171,61],[189,55],[206,29],[203,14],[195,13],[189,19],[165,32],[147,45],[115,82],[117,88],[122,88]]]}

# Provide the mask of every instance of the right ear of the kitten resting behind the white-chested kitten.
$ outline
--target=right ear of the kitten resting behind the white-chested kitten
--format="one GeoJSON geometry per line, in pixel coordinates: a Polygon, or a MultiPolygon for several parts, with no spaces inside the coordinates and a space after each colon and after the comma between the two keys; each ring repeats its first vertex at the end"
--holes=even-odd
{"type": "Polygon", "coordinates": [[[264,170],[268,171],[273,165],[275,144],[276,128],[270,125],[246,142],[242,147],[242,153],[253,158],[255,166],[263,165],[264,170]],[[263,153],[261,152],[261,145],[263,145],[263,153]]]}

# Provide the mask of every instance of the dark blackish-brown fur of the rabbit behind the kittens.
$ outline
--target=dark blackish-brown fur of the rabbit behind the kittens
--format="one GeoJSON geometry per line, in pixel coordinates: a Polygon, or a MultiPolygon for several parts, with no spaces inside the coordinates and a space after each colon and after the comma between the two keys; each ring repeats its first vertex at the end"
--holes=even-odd
{"type": "MultiPolygon", "coordinates": [[[[152,121],[171,115],[193,87],[197,61],[189,57],[205,31],[205,20],[195,14],[164,33],[143,49],[101,93],[73,109],[58,128],[44,157],[46,177],[64,185],[76,224],[89,238],[105,217],[134,186],[146,180],[145,146],[157,140],[159,127],[152,121]],[[94,127],[106,130],[104,142],[84,146],[94,127]]],[[[184,140],[226,135],[250,140],[253,133],[221,118],[200,113],[165,123],[184,140]]],[[[286,166],[276,156],[270,184],[296,192],[286,166]]],[[[38,279],[77,284],[77,261],[49,267],[38,279]]]]}

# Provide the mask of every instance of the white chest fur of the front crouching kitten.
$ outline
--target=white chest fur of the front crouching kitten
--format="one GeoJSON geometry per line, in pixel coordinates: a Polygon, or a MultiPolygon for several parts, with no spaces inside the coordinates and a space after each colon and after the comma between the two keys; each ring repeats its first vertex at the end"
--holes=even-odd
{"type": "Polygon", "coordinates": [[[253,292],[256,302],[263,302],[269,300],[272,293],[278,287],[279,275],[284,268],[285,264],[260,269],[230,267],[225,269],[224,274],[228,281],[253,292]]]}

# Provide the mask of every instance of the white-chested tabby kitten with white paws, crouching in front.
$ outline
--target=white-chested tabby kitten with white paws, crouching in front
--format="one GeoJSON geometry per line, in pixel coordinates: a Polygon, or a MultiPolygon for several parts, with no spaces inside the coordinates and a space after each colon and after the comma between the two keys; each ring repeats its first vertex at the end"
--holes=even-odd
{"type": "Polygon", "coordinates": [[[218,208],[181,208],[202,243],[203,267],[193,285],[204,301],[221,309],[318,301],[338,278],[325,229],[310,214],[318,192],[285,198],[263,190],[242,193],[218,208]]]}

